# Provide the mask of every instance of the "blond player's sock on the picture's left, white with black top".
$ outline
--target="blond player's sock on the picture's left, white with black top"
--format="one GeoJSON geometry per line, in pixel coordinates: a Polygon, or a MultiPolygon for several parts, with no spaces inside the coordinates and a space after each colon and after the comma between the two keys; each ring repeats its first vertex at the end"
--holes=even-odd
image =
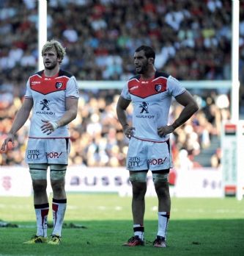
{"type": "Polygon", "coordinates": [[[48,203],[42,205],[34,205],[34,211],[37,218],[37,235],[48,236],[48,203]]]}

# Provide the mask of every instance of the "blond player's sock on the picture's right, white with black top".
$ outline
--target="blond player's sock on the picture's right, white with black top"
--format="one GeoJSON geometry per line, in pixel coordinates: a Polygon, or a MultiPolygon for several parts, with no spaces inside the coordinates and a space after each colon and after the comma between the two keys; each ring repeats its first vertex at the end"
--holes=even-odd
{"type": "Polygon", "coordinates": [[[53,232],[52,235],[61,236],[67,199],[53,199],[53,232]]]}

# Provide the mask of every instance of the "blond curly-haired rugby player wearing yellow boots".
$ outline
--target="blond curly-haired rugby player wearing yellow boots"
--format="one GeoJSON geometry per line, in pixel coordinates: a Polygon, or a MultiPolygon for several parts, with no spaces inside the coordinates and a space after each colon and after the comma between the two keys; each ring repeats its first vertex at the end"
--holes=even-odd
{"type": "Polygon", "coordinates": [[[64,177],[70,152],[68,124],[75,119],[78,109],[76,79],[72,74],[60,69],[64,55],[64,47],[56,40],[48,41],[42,47],[45,68],[29,77],[23,104],[1,146],[3,151],[7,150],[8,143],[14,146],[16,132],[23,127],[32,111],[25,160],[32,177],[37,232],[29,241],[24,242],[26,244],[59,245],[61,241],[67,206],[64,177]],[[49,240],[48,168],[53,191],[53,231],[49,240]]]}

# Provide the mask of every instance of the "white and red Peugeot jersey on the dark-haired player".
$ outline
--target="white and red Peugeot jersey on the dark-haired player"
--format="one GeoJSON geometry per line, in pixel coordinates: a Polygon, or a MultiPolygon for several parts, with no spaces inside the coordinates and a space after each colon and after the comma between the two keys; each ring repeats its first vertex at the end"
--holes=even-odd
{"type": "Polygon", "coordinates": [[[122,90],[121,96],[133,104],[134,137],[146,141],[167,141],[169,135],[160,138],[158,127],[168,124],[172,96],[185,92],[185,88],[174,77],[155,72],[152,79],[132,77],[122,90]]]}

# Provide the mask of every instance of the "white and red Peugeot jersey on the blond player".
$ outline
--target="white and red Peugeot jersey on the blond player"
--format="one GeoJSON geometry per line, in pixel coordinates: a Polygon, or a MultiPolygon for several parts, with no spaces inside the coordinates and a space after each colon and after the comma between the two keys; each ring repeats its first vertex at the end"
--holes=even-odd
{"type": "Polygon", "coordinates": [[[59,70],[54,77],[45,77],[43,71],[29,77],[26,83],[26,99],[33,99],[29,138],[69,138],[68,125],[59,127],[50,135],[43,133],[41,120],[58,121],[66,111],[65,99],[78,99],[75,77],[59,70]]]}

